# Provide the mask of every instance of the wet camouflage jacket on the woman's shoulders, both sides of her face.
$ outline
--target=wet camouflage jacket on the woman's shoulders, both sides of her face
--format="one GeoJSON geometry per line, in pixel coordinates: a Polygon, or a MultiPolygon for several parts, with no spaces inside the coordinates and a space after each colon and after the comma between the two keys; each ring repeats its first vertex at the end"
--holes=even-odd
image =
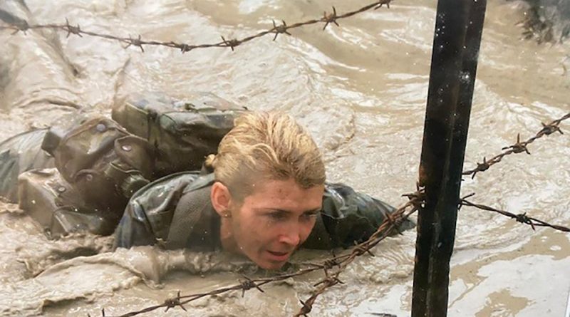
{"type": "MultiPolygon", "coordinates": [[[[115,231],[115,247],[219,249],[219,216],[209,200],[212,174],[182,172],[135,193],[115,231]],[[199,202],[199,203],[196,203],[199,202]]],[[[368,239],[394,208],[343,184],[326,184],[323,209],[302,247],[332,249],[368,239]]],[[[414,227],[406,221],[400,230],[414,227]]]]}

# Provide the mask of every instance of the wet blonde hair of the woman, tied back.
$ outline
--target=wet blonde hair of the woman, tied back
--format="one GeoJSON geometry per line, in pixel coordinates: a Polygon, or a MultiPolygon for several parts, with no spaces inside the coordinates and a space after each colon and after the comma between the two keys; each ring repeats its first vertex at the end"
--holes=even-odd
{"type": "Polygon", "coordinates": [[[257,180],[293,179],[302,188],[325,182],[324,162],[313,138],[283,113],[240,115],[205,165],[237,199],[251,194],[257,180]]]}

